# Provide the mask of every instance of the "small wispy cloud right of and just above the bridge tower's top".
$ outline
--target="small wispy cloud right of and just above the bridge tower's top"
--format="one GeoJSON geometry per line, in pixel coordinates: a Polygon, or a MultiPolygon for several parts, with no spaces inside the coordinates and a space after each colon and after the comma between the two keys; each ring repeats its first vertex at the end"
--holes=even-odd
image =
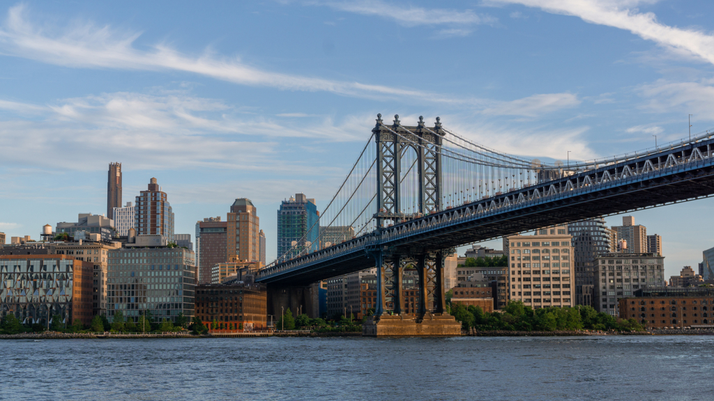
{"type": "Polygon", "coordinates": [[[493,116],[537,117],[563,108],[580,104],[578,96],[572,93],[543,93],[515,101],[505,101],[485,108],[481,113],[493,116]]]}

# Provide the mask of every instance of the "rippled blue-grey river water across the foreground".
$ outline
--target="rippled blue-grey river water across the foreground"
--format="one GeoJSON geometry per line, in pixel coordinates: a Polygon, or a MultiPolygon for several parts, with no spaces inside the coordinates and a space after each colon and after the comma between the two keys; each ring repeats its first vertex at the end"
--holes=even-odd
{"type": "Polygon", "coordinates": [[[0,400],[714,400],[714,336],[0,340],[0,400]]]}

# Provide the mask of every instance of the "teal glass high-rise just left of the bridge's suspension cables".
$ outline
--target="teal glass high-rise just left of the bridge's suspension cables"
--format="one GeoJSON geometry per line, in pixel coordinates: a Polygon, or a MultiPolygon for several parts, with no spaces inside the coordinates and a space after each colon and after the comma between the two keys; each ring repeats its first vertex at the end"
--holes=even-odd
{"type": "Polygon", "coordinates": [[[315,200],[305,194],[296,193],[295,198],[283,200],[278,210],[278,258],[293,258],[306,248],[318,250],[318,218],[315,200]]]}

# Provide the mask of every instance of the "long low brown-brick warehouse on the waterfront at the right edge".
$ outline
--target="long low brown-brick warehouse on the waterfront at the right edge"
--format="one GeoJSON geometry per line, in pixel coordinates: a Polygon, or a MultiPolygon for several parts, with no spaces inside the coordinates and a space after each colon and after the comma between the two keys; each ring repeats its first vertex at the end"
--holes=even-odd
{"type": "Polygon", "coordinates": [[[645,288],[618,301],[620,318],[645,328],[714,328],[714,288],[645,288]]]}

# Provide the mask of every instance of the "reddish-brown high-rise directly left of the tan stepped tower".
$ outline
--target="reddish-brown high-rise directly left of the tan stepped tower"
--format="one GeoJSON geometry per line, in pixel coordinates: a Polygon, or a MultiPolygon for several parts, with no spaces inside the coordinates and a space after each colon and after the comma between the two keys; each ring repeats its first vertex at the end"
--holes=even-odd
{"type": "Polygon", "coordinates": [[[226,252],[226,231],[228,230],[228,222],[221,221],[220,216],[215,218],[204,218],[198,222],[198,233],[201,241],[201,259],[198,265],[198,283],[211,283],[211,269],[218,263],[226,263],[228,261],[228,253],[226,252]]]}

